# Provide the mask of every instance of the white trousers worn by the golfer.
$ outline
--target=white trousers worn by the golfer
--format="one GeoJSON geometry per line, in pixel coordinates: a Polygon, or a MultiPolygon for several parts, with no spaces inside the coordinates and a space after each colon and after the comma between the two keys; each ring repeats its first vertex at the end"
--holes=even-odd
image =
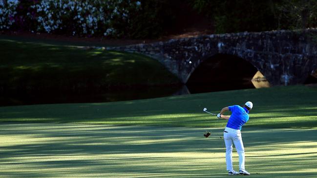
{"type": "Polygon", "coordinates": [[[235,129],[226,127],[225,132],[223,134],[223,138],[225,139],[225,144],[226,144],[227,171],[233,170],[232,168],[232,141],[239,155],[239,169],[245,170],[244,147],[243,147],[240,130],[235,130],[235,129]]]}

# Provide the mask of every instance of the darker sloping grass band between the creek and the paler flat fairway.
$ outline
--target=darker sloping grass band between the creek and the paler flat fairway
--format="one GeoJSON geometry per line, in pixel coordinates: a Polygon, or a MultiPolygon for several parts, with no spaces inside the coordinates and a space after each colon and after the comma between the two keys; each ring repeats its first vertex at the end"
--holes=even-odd
{"type": "Polygon", "coordinates": [[[250,100],[245,127],[317,127],[317,88],[303,85],[247,89],[108,103],[0,107],[0,122],[58,122],[124,125],[224,127],[212,113],[250,100]]]}

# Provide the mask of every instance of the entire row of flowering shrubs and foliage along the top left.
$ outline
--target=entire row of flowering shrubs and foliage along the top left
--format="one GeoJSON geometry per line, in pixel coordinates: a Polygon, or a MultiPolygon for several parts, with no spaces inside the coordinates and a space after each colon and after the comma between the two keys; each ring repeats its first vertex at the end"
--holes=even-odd
{"type": "MultiPolygon", "coordinates": [[[[152,38],[168,0],[0,0],[0,30],[152,38]],[[160,11],[157,10],[159,7],[160,11]]],[[[168,16],[167,16],[168,17],[168,16]]]]}

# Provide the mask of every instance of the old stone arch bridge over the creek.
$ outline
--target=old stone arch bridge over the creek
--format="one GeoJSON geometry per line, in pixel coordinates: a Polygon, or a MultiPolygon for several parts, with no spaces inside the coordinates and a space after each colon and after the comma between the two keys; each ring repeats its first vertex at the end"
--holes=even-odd
{"type": "Polygon", "coordinates": [[[316,75],[317,69],[317,29],[204,35],[107,49],[157,59],[183,83],[204,60],[216,54],[245,59],[271,85],[301,84],[309,75],[316,75]]]}

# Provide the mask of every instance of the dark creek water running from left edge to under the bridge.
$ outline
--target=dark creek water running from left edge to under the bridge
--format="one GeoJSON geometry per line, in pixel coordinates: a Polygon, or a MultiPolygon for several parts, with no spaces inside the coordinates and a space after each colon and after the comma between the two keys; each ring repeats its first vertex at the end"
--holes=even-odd
{"type": "Polygon", "coordinates": [[[254,88],[250,84],[197,84],[181,86],[157,86],[144,87],[142,89],[126,89],[120,91],[108,91],[104,93],[59,93],[59,92],[42,92],[42,93],[15,93],[0,96],[0,106],[12,105],[31,105],[31,104],[54,104],[54,103],[83,103],[83,102],[111,102],[134,99],[150,99],[159,97],[168,97],[175,95],[188,95],[194,93],[206,93],[214,91],[235,90],[254,88]]]}

